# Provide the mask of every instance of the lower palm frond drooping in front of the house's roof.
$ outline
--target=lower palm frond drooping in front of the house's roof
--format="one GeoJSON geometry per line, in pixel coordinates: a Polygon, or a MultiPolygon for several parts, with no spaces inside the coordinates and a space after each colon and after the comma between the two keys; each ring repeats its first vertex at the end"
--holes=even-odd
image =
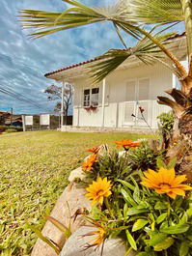
{"type": "MultiPolygon", "coordinates": [[[[156,40],[163,44],[168,44],[167,41],[172,33],[158,36],[156,40]]],[[[142,61],[147,65],[151,65],[155,62],[160,62],[165,65],[170,70],[174,71],[178,76],[180,76],[178,70],[173,66],[171,62],[165,57],[165,54],[162,53],[161,49],[157,45],[151,42],[147,37],[139,41],[133,48],[127,49],[111,49],[99,56],[99,61],[96,64],[90,67],[90,74],[94,78],[94,82],[100,82],[105,78],[109,73],[115,71],[120,67],[125,60],[130,56],[135,56],[137,59],[142,61]]]]}

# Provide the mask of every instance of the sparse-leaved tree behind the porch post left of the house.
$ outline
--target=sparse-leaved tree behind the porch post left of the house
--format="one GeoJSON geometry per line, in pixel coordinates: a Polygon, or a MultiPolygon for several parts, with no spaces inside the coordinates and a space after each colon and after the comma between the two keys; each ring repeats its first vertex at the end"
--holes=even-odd
{"type": "MultiPolygon", "coordinates": [[[[55,104],[54,111],[60,112],[62,107],[62,87],[57,85],[49,85],[44,93],[47,94],[48,100],[58,100],[55,104]]],[[[69,106],[72,103],[73,87],[69,84],[68,88],[64,89],[64,124],[67,125],[69,106]]]]}

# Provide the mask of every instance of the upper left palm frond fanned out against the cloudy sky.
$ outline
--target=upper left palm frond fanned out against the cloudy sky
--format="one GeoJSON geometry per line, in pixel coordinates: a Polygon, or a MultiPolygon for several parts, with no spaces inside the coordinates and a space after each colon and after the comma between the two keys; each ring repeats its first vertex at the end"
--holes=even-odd
{"type": "MultiPolygon", "coordinates": [[[[72,7],[64,13],[51,13],[35,10],[20,11],[20,21],[24,28],[33,28],[30,36],[40,38],[80,26],[89,25],[96,22],[111,20],[123,20],[123,11],[119,9],[119,3],[100,8],[89,8],[74,0],[64,0],[72,7]]],[[[127,20],[127,33],[136,39],[141,38],[141,32],[137,30],[136,22],[127,20]]]]}

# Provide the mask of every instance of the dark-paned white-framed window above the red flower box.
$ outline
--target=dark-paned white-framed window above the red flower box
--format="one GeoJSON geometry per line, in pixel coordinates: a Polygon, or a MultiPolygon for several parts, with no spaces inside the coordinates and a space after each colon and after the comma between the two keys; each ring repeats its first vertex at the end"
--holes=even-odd
{"type": "Polygon", "coordinates": [[[98,105],[99,88],[85,89],[83,93],[83,106],[98,105]]]}

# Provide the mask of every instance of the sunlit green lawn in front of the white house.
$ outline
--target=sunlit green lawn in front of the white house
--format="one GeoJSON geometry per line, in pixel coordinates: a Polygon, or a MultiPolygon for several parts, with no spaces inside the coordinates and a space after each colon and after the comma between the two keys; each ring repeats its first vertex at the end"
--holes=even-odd
{"type": "Polygon", "coordinates": [[[127,133],[17,132],[0,136],[1,256],[30,255],[37,240],[27,223],[41,228],[45,215],[68,185],[86,149],[115,140],[141,137],[127,133]]]}

